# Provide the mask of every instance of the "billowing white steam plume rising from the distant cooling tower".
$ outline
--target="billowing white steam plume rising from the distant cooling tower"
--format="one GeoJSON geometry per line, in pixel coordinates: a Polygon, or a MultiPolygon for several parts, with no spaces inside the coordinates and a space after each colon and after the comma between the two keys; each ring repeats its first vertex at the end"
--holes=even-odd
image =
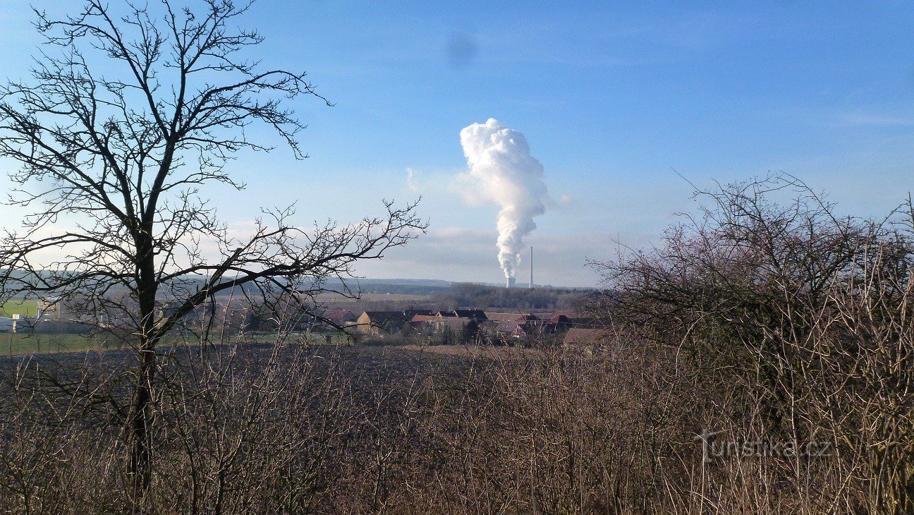
{"type": "Polygon", "coordinates": [[[474,198],[494,202],[498,212],[498,263],[505,277],[515,277],[524,236],[537,228],[533,218],[546,212],[549,194],[543,165],[530,156],[524,134],[494,118],[460,132],[474,198]]]}

